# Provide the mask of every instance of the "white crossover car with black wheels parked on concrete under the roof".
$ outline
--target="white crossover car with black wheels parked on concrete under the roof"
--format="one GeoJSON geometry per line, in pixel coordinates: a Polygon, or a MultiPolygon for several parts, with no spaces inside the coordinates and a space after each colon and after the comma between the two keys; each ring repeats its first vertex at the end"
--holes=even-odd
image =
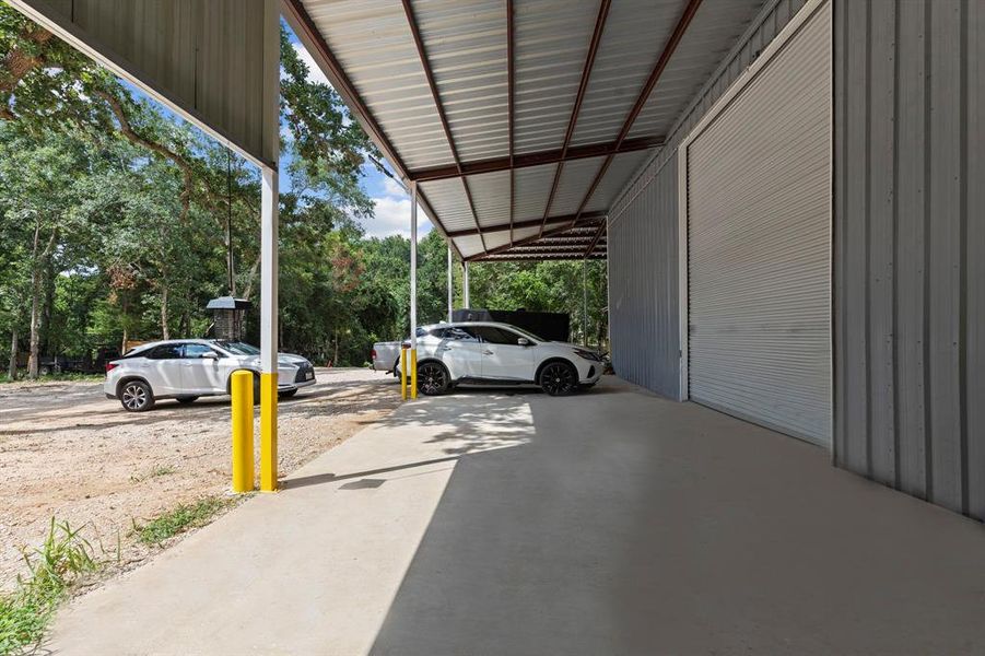
{"type": "Polygon", "coordinates": [[[539,385],[551,396],[566,396],[595,385],[603,368],[601,355],[591,349],[548,341],[508,324],[418,329],[418,390],[426,395],[464,383],[539,385]]]}

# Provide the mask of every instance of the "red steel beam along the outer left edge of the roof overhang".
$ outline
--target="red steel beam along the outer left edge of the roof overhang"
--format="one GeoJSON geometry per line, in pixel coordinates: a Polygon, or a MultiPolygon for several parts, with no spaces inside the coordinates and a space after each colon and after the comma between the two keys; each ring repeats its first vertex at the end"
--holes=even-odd
{"type": "MultiPolygon", "coordinates": [[[[366,130],[370,139],[372,139],[376,147],[383,151],[384,156],[397,171],[397,175],[403,179],[411,179],[408,175],[407,165],[403,163],[403,160],[397,155],[397,149],[390,143],[386,132],[383,131],[383,128],[373,117],[373,114],[370,112],[363,97],[355,89],[355,85],[349,79],[349,75],[345,74],[342,65],[339,63],[339,60],[331,51],[331,48],[328,47],[328,43],[325,40],[318,26],[315,25],[315,21],[308,15],[302,0],[283,0],[282,7],[284,8],[284,15],[291,23],[294,32],[305,44],[305,47],[310,46],[308,49],[314,50],[312,56],[318,61],[319,66],[325,71],[325,74],[331,81],[332,87],[339,93],[342,101],[345,102],[345,105],[355,115],[363,129],[366,130]]],[[[434,225],[437,226],[438,231],[447,235],[445,226],[438,221],[437,212],[434,211],[434,208],[421,189],[418,189],[418,201],[424,208],[425,213],[434,225]]],[[[458,250],[458,246],[456,246],[454,242],[450,242],[450,244],[455,253],[458,254],[458,257],[461,257],[461,251],[458,250]]]]}

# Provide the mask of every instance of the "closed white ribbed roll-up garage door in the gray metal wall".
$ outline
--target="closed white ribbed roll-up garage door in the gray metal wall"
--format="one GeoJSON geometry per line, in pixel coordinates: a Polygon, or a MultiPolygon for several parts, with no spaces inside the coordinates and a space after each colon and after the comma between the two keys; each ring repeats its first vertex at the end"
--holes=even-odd
{"type": "Polygon", "coordinates": [[[802,11],[685,145],[688,371],[693,400],[830,444],[831,11],[802,11]]]}

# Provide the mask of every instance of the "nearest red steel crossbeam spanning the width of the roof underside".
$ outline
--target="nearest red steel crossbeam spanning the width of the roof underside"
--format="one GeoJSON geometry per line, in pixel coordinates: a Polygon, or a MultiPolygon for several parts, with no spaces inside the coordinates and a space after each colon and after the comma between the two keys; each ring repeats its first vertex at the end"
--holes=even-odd
{"type": "Polygon", "coordinates": [[[462,162],[461,168],[458,166],[435,166],[433,168],[419,168],[408,173],[408,178],[419,183],[430,183],[434,180],[446,180],[457,178],[462,175],[478,175],[481,173],[497,173],[501,171],[509,171],[511,168],[527,168],[529,166],[541,166],[543,164],[556,164],[559,162],[572,162],[574,160],[585,160],[588,157],[605,157],[607,155],[615,155],[620,153],[634,153],[652,148],[660,148],[664,145],[664,137],[643,137],[638,139],[626,139],[619,148],[615,143],[593,143],[589,145],[568,147],[565,153],[561,149],[552,151],[541,151],[536,153],[526,153],[521,155],[513,155],[511,157],[496,157],[493,160],[480,160],[477,162],[462,162]]]}

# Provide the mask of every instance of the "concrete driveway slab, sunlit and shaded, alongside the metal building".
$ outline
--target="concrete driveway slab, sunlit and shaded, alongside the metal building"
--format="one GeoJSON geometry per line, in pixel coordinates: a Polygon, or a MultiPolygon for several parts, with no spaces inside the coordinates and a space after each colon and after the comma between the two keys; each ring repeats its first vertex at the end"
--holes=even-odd
{"type": "Polygon", "coordinates": [[[983,617],[980,524],[607,378],[407,403],[78,599],[47,646],[978,654],[983,617]]]}

